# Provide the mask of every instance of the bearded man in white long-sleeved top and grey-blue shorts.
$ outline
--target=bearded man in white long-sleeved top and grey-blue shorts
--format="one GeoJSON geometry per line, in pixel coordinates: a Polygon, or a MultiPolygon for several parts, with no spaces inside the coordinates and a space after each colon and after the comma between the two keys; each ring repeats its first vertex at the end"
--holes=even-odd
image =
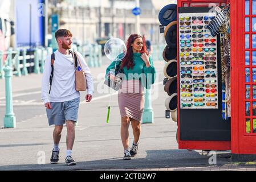
{"type": "MultiPolygon", "coordinates": [[[[67,126],[66,137],[66,164],[68,166],[76,165],[72,158],[72,148],[75,140],[75,122],[78,120],[78,107],[80,102],[80,93],[75,90],[75,60],[69,50],[72,44],[72,34],[69,30],[60,29],[55,32],[55,38],[58,42],[58,50],[54,52],[54,71],[51,77],[52,56],[46,58],[42,78],[42,100],[46,107],[48,123],[55,125],[53,131],[54,147],[52,150],[51,163],[59,161],[59,141],[63,129],[63,124],[67,126]],[[50,87],[50,91],[49,91],[50,87]],[[50,93],[50,94],[49,94],[50,93]]],[[[76,52],[82,68],[86,73],[87,93],[86,102],[90,102],[94,93],[94,84],[90,69],[88,68],[83,56],[76,52]]]]}

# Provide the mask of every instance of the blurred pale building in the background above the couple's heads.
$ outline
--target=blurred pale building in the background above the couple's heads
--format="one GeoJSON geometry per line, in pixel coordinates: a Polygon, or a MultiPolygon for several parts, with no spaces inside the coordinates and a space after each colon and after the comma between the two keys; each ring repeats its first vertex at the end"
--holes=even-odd
{"type": "MultiPolygon", "coordinates": [[[[56,0],[49,0],[53,3],[56,0]]],[[[140,34],[147,35],[152,43],[164,43],[159,31],[159,11],[173,3],[170,0],[140,0],[140,34]]],[[[60,28],[71,30],[80,42],[94,42],[96,38],[111,35],[126,40],[136,33],[136,16],[132,9],[135,0],[63,0],[56,4],[60,20],[65,24],[60,28]]]]}

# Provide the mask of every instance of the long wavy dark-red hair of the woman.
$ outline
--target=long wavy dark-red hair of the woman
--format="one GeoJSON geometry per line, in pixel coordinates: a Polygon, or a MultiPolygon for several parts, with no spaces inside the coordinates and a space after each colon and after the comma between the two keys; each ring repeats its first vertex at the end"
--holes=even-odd
{"type": "Polygon", "coordinates": [[[141,53],[147,53],[148,54],[148,51],[147,51],[147,48],[146,48],[146,44],[145,44],[145,39],[138,35],[138,34],[132,34],[129,36],[128,40],[127,40],[127,43],[126,43],[126,47],[127,47],[127,53],[126,55],[124,56],[124,59],[120,65],[120,67],[123,69],[124,67],[127,67],[127,69],[129,68],[132,68],[133,69],[133,51],[132,51],[132,44],[135,42],[135,40],[137,38],[142,38],[143,39],[143,47],[141,49],[141,53]]]}

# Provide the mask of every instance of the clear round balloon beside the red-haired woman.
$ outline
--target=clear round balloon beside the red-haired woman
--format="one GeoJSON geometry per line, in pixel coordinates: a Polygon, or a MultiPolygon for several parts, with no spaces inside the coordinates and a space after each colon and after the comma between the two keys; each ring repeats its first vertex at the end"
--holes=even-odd
{"type": "Polygon", "coordinates": [[[119,38],[109,39],[104,46],[105,55],[109,60],[120,61],[127,53],[127,48],[123,40],[119,38]]]}

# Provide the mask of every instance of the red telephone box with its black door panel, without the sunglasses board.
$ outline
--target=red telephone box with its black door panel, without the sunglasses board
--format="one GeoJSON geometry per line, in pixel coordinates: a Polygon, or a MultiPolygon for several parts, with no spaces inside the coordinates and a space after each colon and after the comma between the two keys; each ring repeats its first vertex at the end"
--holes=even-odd
{"type": "MultiPolygon", "coordinates": [[[[229,1],[178,0],[177,19],[181,11],[193,13],[193,7],[200,10],[200,7],[209,7],[210,3],[225,6],[229,1]]],[[[179,28],[177,23],[177,30],[179,28]]],[[[198,109],[197,112],[197,109],[182,109],[181,93],[178,92],[178,147],[231,150],[234,159],[239,159],[243,155],[256,156],[253,155],[256,154],[256,0],[230,2],[230,30],[231,119],[226,123],[221,121],[221,94],[218,109],[198,109]],[[192,123],[194,121],[196,126],[192,123]]],[[[180,34],[177,34],[177,61],[180,61],[181,53],[179,38],[180,34]]],[[[217,59],[220,59],[220,53],[217,59]]],[[[180,71],[178,64],[178,88],[180,71]]],[[[221,93],[221,87],[218,89],[217,92],[221,93]]]]}

